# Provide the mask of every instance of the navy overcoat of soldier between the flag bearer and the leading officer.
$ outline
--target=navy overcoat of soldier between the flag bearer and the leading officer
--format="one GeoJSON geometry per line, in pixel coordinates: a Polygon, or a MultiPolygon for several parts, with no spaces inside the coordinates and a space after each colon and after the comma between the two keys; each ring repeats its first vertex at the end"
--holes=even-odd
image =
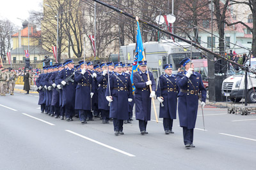
{"type": "Polygon", "coordinates": [[[160,104],[160,118],[172,118],[176,119],[177,112],[177,96],[178,96],[178,87],[176,85],[177,77],[175,74],[168,76],[164,74],[159,76],[159,83],[157,85],[157,97],[163,97],[163,107],[160,104]],[[168,80],[166,80],[168,78],[168,80]],[[161,87],[161,89],[160,89],[161,87]]]}

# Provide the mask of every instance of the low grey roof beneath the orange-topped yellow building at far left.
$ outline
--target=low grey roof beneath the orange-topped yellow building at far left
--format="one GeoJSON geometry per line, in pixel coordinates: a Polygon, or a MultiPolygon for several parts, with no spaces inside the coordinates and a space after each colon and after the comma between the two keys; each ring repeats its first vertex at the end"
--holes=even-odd
{"type": "MultiPolygon", "coordinates": [[[[24,50],[28,50],[28,46],[22,46],[21,48],[15,48],[12,50],[13,54],[24,54],[24,50]]],[[[45,50],[42,46],[29,46],[29,53],[30,54],[38,54],[38,55],[52,55],[51,52],[45,50]]]]}

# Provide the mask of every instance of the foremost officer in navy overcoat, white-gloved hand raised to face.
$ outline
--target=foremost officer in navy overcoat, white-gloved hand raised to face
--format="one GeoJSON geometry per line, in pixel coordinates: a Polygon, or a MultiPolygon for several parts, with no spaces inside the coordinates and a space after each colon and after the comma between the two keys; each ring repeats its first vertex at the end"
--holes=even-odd
{"type": "Polygon", "coordinates": [[[205,106],[206,90],[201,74],[194,72],[194,64],[189,58],[180,62],[185,71],[177,74],[177,85],[180,88],[178,94],[178,111],[180,127],[183,128],[184,145],[186,148],[194,148],[193,132],[196,124],[198,98],[202,92],[202,108],[205,106]]]}

